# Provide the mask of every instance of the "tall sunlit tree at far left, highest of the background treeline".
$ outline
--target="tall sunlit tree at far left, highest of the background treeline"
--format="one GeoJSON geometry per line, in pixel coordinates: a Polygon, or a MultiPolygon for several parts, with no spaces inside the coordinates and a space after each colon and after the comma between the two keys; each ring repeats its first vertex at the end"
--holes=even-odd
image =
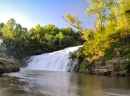
{"type": "Polygon", "coordinates": [[[2,40],[6,45],[6,54],[9,57],[21,58],[21,54],[23,53],[22,38],[25,38],[23,33],[25,33],[26,29],[24,28],[23,30],[22,26],[11,18],[1,30],[2,40]]]}

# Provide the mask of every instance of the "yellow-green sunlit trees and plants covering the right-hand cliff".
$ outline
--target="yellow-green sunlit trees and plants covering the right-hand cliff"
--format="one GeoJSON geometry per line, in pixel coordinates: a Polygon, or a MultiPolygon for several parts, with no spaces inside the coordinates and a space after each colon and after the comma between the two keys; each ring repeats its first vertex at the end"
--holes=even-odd
{"type": "MultiPolygon", "coordinates": [[[[64,15],[64,19],[77,28],[85,40],[84,47],[78,52],[79,65],[75,70],[85,73],[86,69],[91,71],[93,66],[107,65],[107,62],[112,60],[113,71],[123,70],[130,73],[130,2],[128,0],[88,2],[90,7],[85,14],[87,17],[93,17],[94,28],[83,29],[77,16],[70,13],[64,15]]],[[[71,54],[72,58],[75,53],[71,54]]]]}

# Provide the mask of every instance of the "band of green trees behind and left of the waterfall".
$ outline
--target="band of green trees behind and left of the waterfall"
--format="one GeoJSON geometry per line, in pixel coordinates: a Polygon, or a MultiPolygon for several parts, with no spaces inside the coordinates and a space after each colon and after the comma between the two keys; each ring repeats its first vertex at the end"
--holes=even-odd
{"type": "Polygon", "coordinates": [[[38,24],[27,30],[13,18],[6,24],[0,23],[0,34],[6,45],[7,56],[17,59],[80,45],[82,42],[80,34],[72,28],[59,29],[51,24],[44,27],[38,24]]]}

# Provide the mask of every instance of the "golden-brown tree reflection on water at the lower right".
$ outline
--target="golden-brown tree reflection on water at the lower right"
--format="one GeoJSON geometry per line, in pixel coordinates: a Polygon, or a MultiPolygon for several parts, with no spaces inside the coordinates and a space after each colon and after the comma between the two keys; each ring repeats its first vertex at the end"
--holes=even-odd
{"type": "Polygon", "coordinates": [[[80,96],[129,96],[130,78],[85,76],[81,74],[78,85],[83,86],[83,95],[80,96]]]}

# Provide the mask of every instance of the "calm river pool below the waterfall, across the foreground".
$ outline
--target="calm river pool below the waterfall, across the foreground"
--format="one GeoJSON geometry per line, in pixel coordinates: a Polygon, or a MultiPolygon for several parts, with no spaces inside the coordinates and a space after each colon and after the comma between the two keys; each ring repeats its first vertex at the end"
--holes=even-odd
{"type": "Polygon", "coordinates": [[[0,96],[130,96],[130,77],[30,69],[6,75],[0,96]]]}

